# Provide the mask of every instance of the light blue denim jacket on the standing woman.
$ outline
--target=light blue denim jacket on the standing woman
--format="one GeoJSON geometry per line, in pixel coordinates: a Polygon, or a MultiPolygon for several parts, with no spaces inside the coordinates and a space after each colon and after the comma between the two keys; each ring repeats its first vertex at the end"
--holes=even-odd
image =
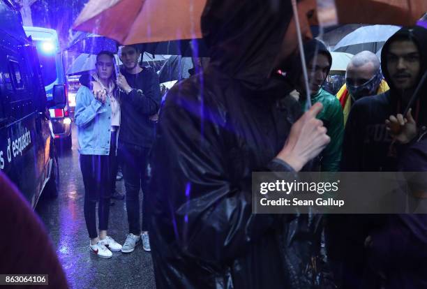
{"type": "Polygon", "coordinates": [[[75,124],[80,154],[109,155],[111,138],[111,103],[105,104],[93,96],[92,91],[81,86],[75,96],[75,124]]]}

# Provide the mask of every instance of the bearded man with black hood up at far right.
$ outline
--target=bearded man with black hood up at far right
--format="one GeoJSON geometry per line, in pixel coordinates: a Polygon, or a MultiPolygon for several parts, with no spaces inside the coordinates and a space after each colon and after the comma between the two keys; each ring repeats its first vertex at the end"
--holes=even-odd
{"type": "MultiPolygon", "coordinates": [[[[401,151],[426,133],[426,84],[412,104],[412,114],[406,119],[401,114],[426,73],[427,30],[422,27],[400,29],[385,43],[381,59],[390,90],[354,103],[345,127],[343,171],[394,172],[398,170],[398,156],[404,155],[401,151]],[[399,124],[401,127],[395,133],[387,128],[399,124]]],[[[343,288],[364,286],[361,281],[366,268],[364,244],[369,243],[366,238],[375,235],[375,230],[380,230],[377,225],[387,223],[387,218],[339,216],[329,220],[329,257],[340,263],[343,288]],[[377,224],[375,228],[373,224],[377,224]]]]}

